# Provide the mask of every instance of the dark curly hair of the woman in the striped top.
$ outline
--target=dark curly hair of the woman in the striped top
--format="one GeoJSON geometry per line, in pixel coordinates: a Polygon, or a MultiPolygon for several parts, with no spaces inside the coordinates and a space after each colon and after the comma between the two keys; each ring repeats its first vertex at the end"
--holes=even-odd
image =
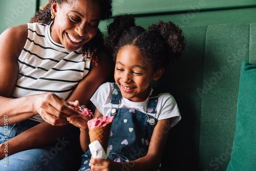
{"type": "MultiPolygon", "coordinates": [[[[52,22],[51,18],[51,5],[52,3],[57,3],[61,6],[63,3],[70,3],[71,0],[49,0],[45,6],[40,7],[40,10],[36,12],[33,18],[31,18],[30,23],[43,23],[49,25],[52,22]]],[[[73,0],[72,0],[73,1],[73,0]]],[[[85,0],[92,1],[100,5],[101,16],[100,19],[104,20],[112,16],[112,1],[111,0],[85,0]]],[[[83,57],[91,56],[92,61],[97,65],[97,54],[98,51],[104,50],[104,39],[103,34],[98,29],[97,34],[89,42],[87,42],[82,47],[83,57]],[[88,55],[88,52],[90,55],[88,55]]]]}

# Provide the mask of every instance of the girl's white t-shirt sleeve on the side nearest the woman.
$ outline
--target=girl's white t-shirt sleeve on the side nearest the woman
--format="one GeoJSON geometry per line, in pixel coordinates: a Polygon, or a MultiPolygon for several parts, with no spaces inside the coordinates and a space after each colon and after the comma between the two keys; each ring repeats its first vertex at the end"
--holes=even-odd
{"type": "Polygon", "coordinates": [[[108,109],[112,97],[110,91],[112,91],[112,83],[103,83],[90,99],[103,116],[107,116],[109,113],[106,109],[108,109]]]}

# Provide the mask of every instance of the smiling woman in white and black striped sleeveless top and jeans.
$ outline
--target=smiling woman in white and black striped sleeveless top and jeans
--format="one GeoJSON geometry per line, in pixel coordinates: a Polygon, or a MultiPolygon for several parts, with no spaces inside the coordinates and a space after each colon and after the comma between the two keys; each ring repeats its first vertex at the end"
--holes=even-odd
{"type": "Polygon", "coordinates": [[[108,79],[98,24],[111,15],[109,1],[49,0],[31,24],[1,34],[1,170],[71,170],[70,135],[62,136],[79,114],[67,101],[90,106],[108,79]]]}

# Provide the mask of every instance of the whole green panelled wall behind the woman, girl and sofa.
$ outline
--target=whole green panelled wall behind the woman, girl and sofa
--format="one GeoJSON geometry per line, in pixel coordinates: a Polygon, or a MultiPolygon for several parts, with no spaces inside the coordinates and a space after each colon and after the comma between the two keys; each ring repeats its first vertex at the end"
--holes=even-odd
{"type": "MultiPolygon", "coordinates": [[[[26,24],[47,0],[0,0],[0,33],[26,24]]],[[[159,19],[179,26],[256,22],[256,0],[113,0],[113,14],[133,13],[147,28],[159,19]]],[[[108,22],[100,24],[105,32],[108,22]]]]}

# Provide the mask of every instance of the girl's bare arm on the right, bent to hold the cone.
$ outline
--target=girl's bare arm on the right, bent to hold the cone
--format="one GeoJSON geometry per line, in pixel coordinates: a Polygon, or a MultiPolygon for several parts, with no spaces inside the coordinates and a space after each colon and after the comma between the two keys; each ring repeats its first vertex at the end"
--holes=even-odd
{"type": "Polygon", "coordinates": [[[91,159],[92,170],[156,170],[161,163],[172,118],[159,120],[155,126],[146,156],[130,162],[113,162],[110,159],[91,159]]]}

